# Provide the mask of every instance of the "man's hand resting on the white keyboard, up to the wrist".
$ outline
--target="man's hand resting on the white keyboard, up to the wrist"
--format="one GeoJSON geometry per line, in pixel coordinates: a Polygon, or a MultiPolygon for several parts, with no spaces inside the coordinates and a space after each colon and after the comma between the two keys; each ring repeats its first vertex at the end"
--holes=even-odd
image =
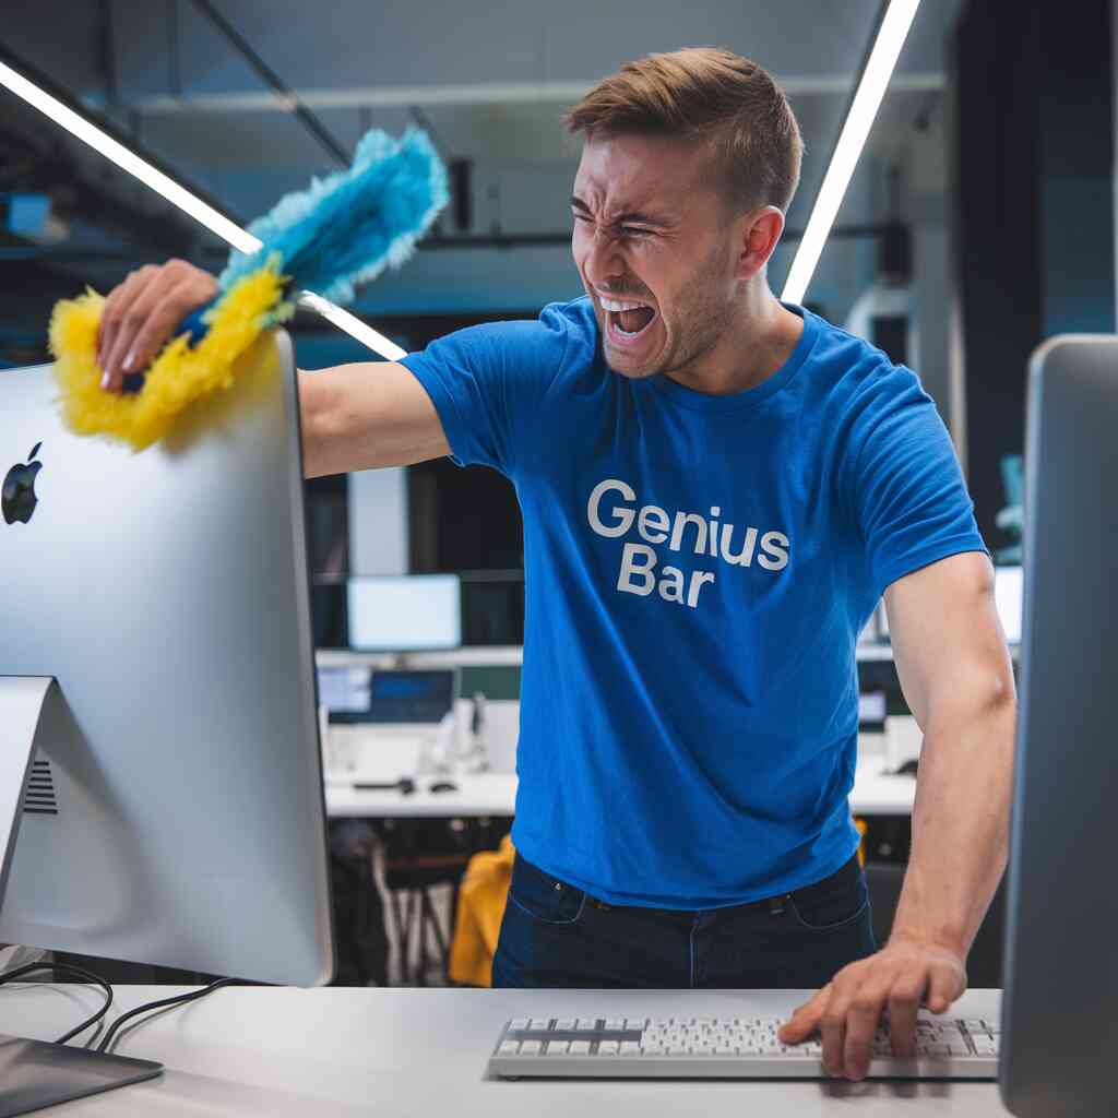
{"type": "Polygon", "coordinates": [[[938,944],[891,939],[875,955],[843,967],[796,1010],[779,1038],[785,1044],[798,1044],[818,1030],[827,1073],[862,1079],[883,1011],[889,1011],[893,1054],[912,1057],[917,1010],[925,1005],[944,1013],[966,988],[964,959],[955,951],[938,944]]]}

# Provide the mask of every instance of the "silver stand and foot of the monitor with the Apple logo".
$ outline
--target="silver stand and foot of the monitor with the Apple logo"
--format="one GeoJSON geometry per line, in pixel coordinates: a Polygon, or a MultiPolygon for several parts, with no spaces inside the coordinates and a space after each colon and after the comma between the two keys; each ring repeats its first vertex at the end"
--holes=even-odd
{"type": "MultiPolygon", "coordinates": [[[[61,691],[53,675],[0,675],[0,908],[16,853],[36,739],[44,727],[59,724],[54,716],[61,713],[60,705],[61,691]]],[[[151,1060],[0,1033],[0,1118],[152,1079],[162,1070],[162,1064],[151,1060]]]]}

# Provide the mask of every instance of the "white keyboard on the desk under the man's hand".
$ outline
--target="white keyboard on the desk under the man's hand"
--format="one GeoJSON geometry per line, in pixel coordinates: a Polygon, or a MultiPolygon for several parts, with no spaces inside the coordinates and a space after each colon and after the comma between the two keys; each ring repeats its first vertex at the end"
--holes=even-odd
{"type": "MultiPolygon", "coordinates": [[[[818,1039],[781,1044],[777,1017],[520,1017],[501,1031],[491,1076],[576,1078],[817,1079],[818,1039]]],[[[892,1055],[878,1030],[870,1079],[996,1079],[996,1021],[917,1020],[916,1057],[892,1055]]]]}

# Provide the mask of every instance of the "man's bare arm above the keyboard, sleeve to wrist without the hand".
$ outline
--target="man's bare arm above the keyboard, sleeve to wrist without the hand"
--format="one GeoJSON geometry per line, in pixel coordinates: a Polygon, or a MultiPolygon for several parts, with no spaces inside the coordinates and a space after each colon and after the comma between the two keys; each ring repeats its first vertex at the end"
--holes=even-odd
{"type": "Polygon", "coordinates": [[[955,556],[885,591],[893,659],[923,730],[912,855],[890,939],[970,949],[1005,870],[1016,688],[994,570],[955,556]]]}

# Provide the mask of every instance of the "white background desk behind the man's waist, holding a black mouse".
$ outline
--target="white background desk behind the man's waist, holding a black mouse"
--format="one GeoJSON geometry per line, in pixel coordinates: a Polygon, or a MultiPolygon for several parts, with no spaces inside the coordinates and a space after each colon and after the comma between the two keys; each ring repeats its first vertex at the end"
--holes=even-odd
{"type": "MultiPolygon", "coordinates": [[[[855,815],[911,815],[916,780],[910,776],[881,775],[884,761],[871,756],[859,760],[850,806],[855,815]]],[[[398,773],[386,774],[395,780],[398,773]]],[[[475,776],[416,777],[416,790],[357,792],[347,785],[326,785],[326,814],[331,818],[438,818],[447,816],[512,815],[517,777],[512,773],[475,776]],[[429,792],[435,780],[451,780],[456,792],[429,792]]]]}

